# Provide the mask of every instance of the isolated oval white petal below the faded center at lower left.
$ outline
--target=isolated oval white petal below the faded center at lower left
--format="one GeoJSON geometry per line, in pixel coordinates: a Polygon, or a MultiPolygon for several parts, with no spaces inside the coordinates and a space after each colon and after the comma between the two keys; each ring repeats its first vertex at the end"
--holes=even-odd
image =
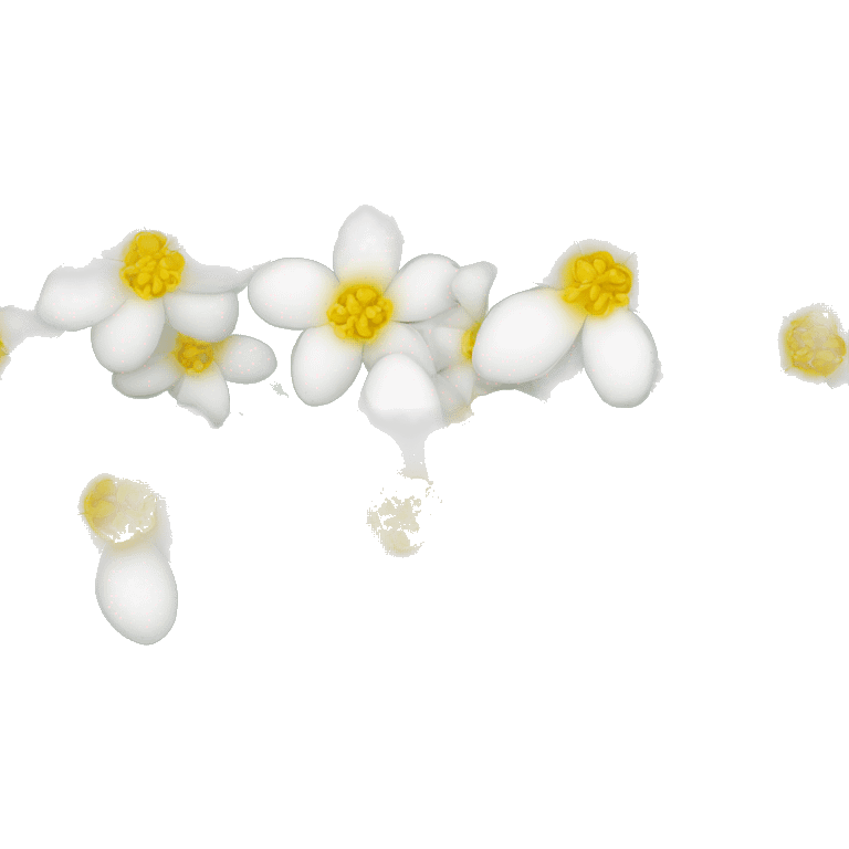
{"type": "Polygon", "coordinates": [[[177,620],[174,573],[144,534],[103,549],[94,595],[106,621],[142,646],[161,640],[177,620]]]}

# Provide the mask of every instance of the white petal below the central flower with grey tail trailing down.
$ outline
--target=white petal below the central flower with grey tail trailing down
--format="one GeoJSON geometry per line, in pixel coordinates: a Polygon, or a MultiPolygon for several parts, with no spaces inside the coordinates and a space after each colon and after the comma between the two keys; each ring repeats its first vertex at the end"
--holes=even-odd
{"type": "Polygon", "coordinates": [[[444,426],[439,394],[428,373],[403,354],[389,354],[368,373],[359,409],[388,433],[407,467],[424,461],[424,440],[444,426]]]}

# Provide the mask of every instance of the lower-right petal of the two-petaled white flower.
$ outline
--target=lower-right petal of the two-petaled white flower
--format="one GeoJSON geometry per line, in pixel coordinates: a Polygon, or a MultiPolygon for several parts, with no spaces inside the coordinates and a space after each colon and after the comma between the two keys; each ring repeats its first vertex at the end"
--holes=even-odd
{"type": "Polygon", "coordinates": [[[658,375],[658,348],[642,318],[616,310],[584,324],[584,368],[599,398],[611,407],[636,407],[649,397],[658,375]]]}

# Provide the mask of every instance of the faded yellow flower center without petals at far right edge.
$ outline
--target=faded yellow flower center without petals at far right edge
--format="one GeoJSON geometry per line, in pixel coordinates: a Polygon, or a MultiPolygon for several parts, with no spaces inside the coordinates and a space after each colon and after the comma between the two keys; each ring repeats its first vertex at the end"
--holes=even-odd
{"type": "Polygon", "coordinates": [[[837,386],[847,377],[847,344],[837,315],[814,304],[788,316],[778,337],[782,366],[809,382],[837,386]]]}

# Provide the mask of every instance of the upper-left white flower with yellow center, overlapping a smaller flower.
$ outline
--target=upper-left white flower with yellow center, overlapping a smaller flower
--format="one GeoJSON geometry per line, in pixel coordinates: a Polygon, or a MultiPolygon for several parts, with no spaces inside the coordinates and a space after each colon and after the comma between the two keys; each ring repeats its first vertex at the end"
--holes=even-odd
{"type": "Polygon", "coordinates": [[[64,331],[91,327],[97,361],[133,371],[156,349],[166,317],[192,338],[227,338],[251,273],[201,265],[165,233],[137,231],[84,269],[53,271],[35,310],[64,331]]]}

